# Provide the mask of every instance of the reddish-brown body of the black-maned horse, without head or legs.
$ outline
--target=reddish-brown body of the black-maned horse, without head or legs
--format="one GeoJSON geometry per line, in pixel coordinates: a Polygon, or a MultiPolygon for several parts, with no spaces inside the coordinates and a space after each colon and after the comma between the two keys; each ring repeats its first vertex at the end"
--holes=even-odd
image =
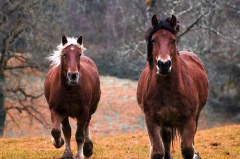
{"type": "Polygon", "coordinates": [[[162,77],[156,76],[155,67],[151,70],[147,64],[139,79],[138,103],[143,112],[151,113],[162,126],[178,128],[188,116],[197,119],[206,103],[208,89],[204,86],[208,81],[199,58],[190,52],[180,52],[178,67],[181,72],[173,69],[170,75],[162,77]]]}

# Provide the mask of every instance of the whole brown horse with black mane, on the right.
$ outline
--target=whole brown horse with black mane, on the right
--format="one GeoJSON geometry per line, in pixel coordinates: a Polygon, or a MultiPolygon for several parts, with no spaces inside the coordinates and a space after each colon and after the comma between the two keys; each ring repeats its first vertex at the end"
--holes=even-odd
{"type": "Polygon", "coordinates": [[[195,154],[194,136],[200,111],[208,97],[208,79],[204,65],[191,52],[177,51],[176,17],[158,20],[152,17],[146,32],[147,60],[138,83],[137,100],[145,115],[152,159],[170,159],[175,131],[181,135],[185,159],[195,154]]]}

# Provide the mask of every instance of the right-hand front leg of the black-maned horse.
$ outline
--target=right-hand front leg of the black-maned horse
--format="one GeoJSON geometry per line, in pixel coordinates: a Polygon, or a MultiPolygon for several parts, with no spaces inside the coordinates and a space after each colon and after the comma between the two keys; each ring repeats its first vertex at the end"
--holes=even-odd
{"type": "Polygon", "coordinates": [[[194,135],[196,130],[196,121],[193,119],[188,120],[185,123],[184,129],[182,130],[182,156],[184,159],[193,159],[194,149],[194,135]]]}

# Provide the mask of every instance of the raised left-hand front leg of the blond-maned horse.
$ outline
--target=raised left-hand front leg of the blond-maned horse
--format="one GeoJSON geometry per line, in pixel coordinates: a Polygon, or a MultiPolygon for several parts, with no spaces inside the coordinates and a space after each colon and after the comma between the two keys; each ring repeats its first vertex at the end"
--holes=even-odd
{"type": "Polygon", "coordinates": [[[54,110],[51,109],[51,120],[52,120],[52,142],[56,148],[62,147],[64,140],[61,138],[60,122],[62,117],[54,110]]]}

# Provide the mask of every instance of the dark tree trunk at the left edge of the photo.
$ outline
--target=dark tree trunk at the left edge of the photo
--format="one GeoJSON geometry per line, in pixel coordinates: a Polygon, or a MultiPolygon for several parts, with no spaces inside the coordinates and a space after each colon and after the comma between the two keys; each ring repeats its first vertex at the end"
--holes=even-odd
{"type": "Polygon", "coordinates": [[[0,69],[0,137],[3,136],[4,123],[6,117],[6,108],[4,107],[4,74],[0,69]]]}

